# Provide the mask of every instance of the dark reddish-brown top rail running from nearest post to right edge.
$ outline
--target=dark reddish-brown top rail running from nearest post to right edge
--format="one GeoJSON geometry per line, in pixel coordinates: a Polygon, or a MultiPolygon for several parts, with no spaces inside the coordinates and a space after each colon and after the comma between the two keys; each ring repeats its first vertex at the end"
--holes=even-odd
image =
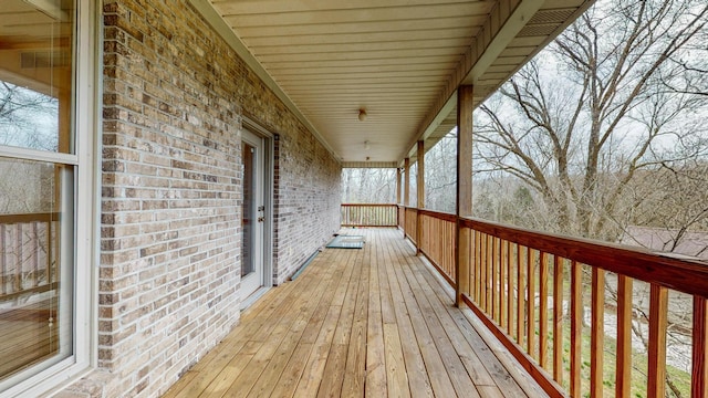
{"type": "Polygon", "coordinates": [[[541,233],[479,219],[464,218],[460,224],[579,263],[708,297],[708,263],[704,261],[676,259],[642,248],[541,233]]]}

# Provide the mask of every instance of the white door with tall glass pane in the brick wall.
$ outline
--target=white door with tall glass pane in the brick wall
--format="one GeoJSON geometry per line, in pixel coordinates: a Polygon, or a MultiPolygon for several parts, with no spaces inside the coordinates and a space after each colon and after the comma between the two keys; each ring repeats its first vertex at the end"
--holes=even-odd
{"type": "Polygon", "coordinates": [[[264,175],[263,138],[242,130],[243,203],[241,245],[241,297],[247,298],[264,285],[264,175]]]}

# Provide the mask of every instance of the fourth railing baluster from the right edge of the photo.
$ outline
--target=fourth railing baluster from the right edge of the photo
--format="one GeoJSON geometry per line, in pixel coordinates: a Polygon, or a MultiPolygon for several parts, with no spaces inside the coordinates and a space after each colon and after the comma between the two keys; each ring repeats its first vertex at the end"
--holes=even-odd
{"type": "Polygon", "coordinates": [[[590,396],[602,397],[604,364],[605,271],[593,268],[592,331],[590,335],[590,396]]]}

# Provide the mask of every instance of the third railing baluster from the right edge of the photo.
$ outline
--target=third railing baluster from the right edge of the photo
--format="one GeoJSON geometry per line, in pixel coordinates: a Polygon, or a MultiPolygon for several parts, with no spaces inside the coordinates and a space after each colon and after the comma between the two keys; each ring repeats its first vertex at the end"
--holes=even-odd
{"type": "Polygon", "coordinates": [[[617,275],[617,363],[615,396],[628,397],[632,389],[632,279],[617,275]]]}

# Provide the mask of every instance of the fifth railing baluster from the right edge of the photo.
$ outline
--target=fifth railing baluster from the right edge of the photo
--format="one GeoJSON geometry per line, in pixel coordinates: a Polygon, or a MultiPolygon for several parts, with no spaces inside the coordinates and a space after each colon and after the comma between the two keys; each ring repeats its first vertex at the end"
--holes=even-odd
{"type": "Polygon", "coordinates": [[[583,327],[583,273],[576,261],[571,262],[571,397],[580,397],[581,343],[583,327]]]}

